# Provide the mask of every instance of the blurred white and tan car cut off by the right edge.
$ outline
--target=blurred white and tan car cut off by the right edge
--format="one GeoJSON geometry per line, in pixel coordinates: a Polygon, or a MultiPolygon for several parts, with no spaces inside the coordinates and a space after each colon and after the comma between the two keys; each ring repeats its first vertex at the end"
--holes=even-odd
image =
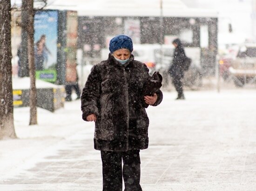
{"type": "Polygon", "coordinates": [[[240,47],[236,58],[231,62],[229,72],[238,87],[243,87],[245,83],[256,82],[256,44],[240,47]]]}

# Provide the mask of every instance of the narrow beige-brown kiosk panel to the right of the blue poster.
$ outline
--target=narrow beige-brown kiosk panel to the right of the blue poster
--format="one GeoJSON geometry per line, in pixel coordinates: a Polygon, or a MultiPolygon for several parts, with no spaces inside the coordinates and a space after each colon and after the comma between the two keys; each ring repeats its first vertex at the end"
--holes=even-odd
{"type": "Polygon", "coordinates": [[[66,52],[66,82],[77,81],[76,71],[76,49],[77,49],[77,13],[67,11],[67,45],[66,52]]]}

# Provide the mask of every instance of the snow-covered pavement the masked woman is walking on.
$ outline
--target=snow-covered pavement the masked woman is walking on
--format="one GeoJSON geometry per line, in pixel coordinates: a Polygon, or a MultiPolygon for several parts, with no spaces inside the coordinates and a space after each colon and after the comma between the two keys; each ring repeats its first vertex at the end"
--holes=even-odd
{"type": "MultiPolygon", "coordinates": [[[[141,151],[143,191],[256,191],[256,89],[164,92],[147,109],[149,148],[141,151]]],[[[14,109],[17,140],[0,141],[0,191],[101,191],[94,124],[80,102],[54,114],[14,109]]]]}

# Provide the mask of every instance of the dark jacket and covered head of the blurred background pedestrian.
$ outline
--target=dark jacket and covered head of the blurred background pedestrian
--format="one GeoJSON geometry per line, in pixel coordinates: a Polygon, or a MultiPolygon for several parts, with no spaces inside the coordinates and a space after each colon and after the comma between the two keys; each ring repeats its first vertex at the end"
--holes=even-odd
{"type": "Polygon", "coordinates": [[[177,44],[177,47],[174,50],[172,65],[170,67],[170,74],[172,77],[183,77],[182,64],[184,58],[186,57],[185,51],[183,49],[182,43],[179,39],[174,41],[177,44]]]}

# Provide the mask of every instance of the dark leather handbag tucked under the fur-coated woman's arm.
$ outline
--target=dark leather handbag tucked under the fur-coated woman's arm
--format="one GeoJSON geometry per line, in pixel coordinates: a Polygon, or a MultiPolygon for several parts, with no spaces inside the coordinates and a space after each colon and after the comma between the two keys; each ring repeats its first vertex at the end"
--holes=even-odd
{"type": "Polygon", "coordinates": [[[142,95],[144,96],[153,96],[155,92],[160,89],[162,86],[162,76],[158,71],[155,71],[154,74],[148,77],[148,80],[144,83],[142,89],[142,95]]]}

